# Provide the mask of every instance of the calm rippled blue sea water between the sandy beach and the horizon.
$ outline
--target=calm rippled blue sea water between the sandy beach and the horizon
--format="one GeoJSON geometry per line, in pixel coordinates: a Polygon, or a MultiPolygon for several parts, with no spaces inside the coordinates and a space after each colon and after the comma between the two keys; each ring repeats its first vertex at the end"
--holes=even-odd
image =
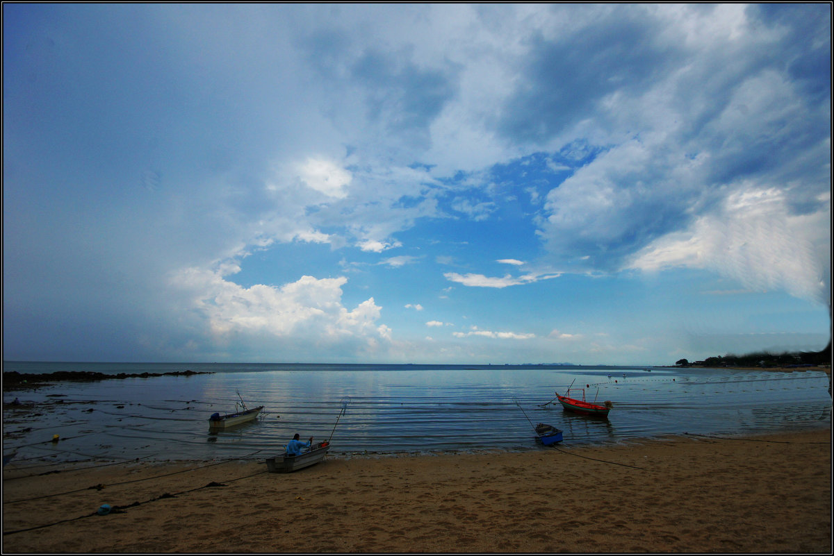
{"type": "Polygon", "coordinates": [[[4,362],[4,371],[108,374],[194,370],[210,375],[58,383],[3,392],[43,405],[4,410],[3,454],[14,460],[261,459],[296,432],[331,439],[331,454],[436,454],[538,449],[533,424],[563,444],[610,444],[667,434],[748,434],[831,425],[828,375],[765,370],[567,365],[228,365],[4,362]],[[573,385],[610,400],[608,419],[565,412],[573,385]],[[244,400],[265,413],[212,433],[208,417],[244,400]],[[558,402],[557,402],[558,404],[558,402]],[[343,412],[344,408],[344,412],[343,412]],[[52,442],[58,434],[59,441],[52,442]]]}

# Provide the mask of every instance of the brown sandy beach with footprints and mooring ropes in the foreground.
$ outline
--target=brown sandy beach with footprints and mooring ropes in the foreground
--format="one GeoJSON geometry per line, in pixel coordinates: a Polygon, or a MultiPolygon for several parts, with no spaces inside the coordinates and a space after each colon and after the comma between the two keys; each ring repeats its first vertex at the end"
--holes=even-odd
{"type": "Polygon", "coordinates": [[[831,553],[831,429],[331,455],[292,474],[263,460],[31,465],[3,468],[4,554],[831,553]]]}

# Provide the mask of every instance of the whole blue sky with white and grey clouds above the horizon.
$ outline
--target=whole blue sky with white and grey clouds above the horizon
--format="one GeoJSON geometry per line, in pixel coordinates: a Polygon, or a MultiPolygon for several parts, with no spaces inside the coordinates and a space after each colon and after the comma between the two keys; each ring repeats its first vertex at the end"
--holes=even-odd
{"type": "Polygon", "coordinates": [[[3,360],[831,338],[831,5],[3,4],[3,360]]]}

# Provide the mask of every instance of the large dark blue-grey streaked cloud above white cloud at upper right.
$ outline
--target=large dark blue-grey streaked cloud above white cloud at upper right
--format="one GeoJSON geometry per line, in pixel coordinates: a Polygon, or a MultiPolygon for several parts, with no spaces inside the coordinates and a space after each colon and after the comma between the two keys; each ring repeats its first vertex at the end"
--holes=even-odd
{"type": "Polygon", "coordinates": [[[674,24],[669,12],[616,6],[536,36],[500,133],[545,145],[587,128],[610,141],[550,191],[541,230],[555,261],[613,271],[740,188],[780,190],[788,214],[826,210],[831,33],[822,8],[748,8],[757,17],[729,14],[737,20],[716,32],[703,25],[728,15],[715,6],[681,8],[674,24]],[[701,19],[681,32],[690,17],[701,19]]]}

